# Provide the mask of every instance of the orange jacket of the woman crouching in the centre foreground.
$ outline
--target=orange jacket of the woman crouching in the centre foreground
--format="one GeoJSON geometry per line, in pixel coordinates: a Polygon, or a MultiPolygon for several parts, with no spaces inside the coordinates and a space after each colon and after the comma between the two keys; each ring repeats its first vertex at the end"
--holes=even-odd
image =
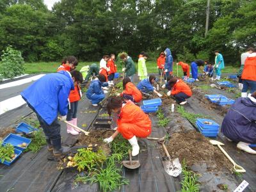
{"type": "Polygon", "coordinates": [[[138,127],[145,127],[150,129],[151,132],[151,120],[139,106],[136,106],[131,100],[127,101],[125,106],[120,111],[120,116],[117,120],[118,127],[121,124],[134,124],[138,127]]]}

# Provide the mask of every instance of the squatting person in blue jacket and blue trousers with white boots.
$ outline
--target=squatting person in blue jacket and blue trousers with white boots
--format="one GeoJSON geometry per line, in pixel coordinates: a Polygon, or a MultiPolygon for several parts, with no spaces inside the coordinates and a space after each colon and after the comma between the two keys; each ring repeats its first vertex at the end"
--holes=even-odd
{"type": "Polygon", "coordinates": [[[102,74],[99,74],[99,77],[91,82],[86,97],[92,102],[93,106],[98,106],[99,102],[105,98],[105,93],[108,93],[108,91],[103,91],[102,87],[106,86],[108,86],[108,83],[106,83],[106,77],[102,74]]]}

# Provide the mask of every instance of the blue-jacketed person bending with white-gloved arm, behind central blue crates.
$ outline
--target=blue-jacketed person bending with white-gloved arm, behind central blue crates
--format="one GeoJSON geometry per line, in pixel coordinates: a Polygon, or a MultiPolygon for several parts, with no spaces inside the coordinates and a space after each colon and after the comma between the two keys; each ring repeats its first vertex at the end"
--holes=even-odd
{"type": "Polygon", "coordinates": [[[156,77],[153,75],[150,75],[149,78],[143,79],[140,83],[138,83],[137,88],[142,93],[150,93],[154,92],[158,95],[158,97],[163,97],[160,93],[156,91],[156,88],[153,86],[154,81],[156,81],[156,77]]]}

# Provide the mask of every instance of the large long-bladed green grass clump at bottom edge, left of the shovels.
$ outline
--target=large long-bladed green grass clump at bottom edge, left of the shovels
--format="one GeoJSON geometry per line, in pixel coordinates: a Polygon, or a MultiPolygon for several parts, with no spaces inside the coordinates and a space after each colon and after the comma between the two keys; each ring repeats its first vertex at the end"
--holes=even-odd
{"type": "Polygon", "coordinates": [[[120,168],[116,166],[116,161],[121,161],[122,156],[120,154],[113,154],[106,161],[106,168],[100,168],[99,170],[93,169],[93,172],[90,172],[86,176],[77,176],[76,182],[90,182],[93,184],[95,182],[99,182],[100,189],[103,192],[107,191],[115,191],[117,188],[124,184],[129,184],[129,180],[124,179],[120,175],[122,171],[120,168]]]}

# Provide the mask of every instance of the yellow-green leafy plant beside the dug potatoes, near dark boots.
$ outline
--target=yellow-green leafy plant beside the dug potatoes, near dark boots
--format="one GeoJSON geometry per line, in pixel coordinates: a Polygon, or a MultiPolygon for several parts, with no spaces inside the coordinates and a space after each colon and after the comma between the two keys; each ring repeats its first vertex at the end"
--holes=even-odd
{"type": "Polygon", "coordinates": [[[74,163],[77,165],[77,170],[81,172],[85,168],[90,172],[95,166],[99,166],[106,161],[106,155],[99,149],[98,152],[93,152],[87,148],[79,148],[74,156],[74,163]]]}

